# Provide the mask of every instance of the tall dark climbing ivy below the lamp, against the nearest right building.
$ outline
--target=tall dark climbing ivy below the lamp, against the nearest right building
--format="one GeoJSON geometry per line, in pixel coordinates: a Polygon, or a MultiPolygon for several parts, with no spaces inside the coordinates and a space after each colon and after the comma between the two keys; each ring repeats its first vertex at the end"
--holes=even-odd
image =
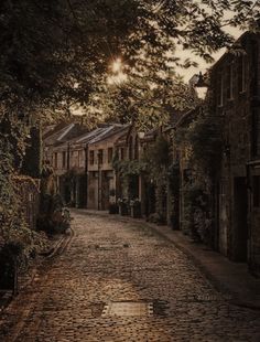
{"type": "Polygon", "coordinates": [[[183,229],[195,241],[210,244],[214,191],[221,165],[221,119],[205,106],[189,125],[177,130],[176,143],[189,151],[189,174],[183,184],[183,229]]]}

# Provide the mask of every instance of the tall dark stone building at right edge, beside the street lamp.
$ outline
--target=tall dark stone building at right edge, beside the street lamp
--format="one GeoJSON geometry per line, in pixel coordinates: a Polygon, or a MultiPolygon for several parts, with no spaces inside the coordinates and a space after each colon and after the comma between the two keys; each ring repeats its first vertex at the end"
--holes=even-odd
{"type": "Polygon", "coordinates": [[[218,249],[260,272],[260,35],[247,32],[210,71],[223,127],[218,249]]]}

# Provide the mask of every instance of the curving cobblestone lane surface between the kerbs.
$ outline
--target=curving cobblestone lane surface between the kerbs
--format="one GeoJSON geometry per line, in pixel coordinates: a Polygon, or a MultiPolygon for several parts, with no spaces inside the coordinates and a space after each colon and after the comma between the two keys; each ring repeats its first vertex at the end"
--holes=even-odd
{"type": "Polygon", "coordinates": [[[0,319],[0,341],[260,341],[182,252],[140,223],[74,212],[75,236],[0,319]],[[75,214],[76,213],[76,214],[75,214]]]}

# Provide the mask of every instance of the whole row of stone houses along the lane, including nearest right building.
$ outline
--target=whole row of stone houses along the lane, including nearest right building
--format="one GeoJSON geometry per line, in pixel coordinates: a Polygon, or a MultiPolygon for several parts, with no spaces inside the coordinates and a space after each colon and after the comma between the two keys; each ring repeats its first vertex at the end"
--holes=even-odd
{"type": "MultiPolygon", "coordinates": [[[[214,193],[214,225],[210,246],[228,258],[247,263],[260,274],[260,36],[245,33],[209,73],[212,115],[221,122],[220,170],[214,193]],[[240,52],[238,52],[240,51],[240,52]]],[[[104,125],[88,131],[78,124],[58,125],[45,132],[45,161],[56,175],[56,188],[71,205],[108,210],[115,199],[138,197],[142,215],[155,212],[151,201],[156,184],[142,175],[134,175],[123,186],[113,168],[119,160],[138,160],[147,147],[163,136],[171,146],[171,163],[178,165],[178,203],[173,228],[183,229],[183,188],[191,173],[187,148],[174,145],[176,132],[188,127],[202,107],[175,114],[166,128],[145,133],[134,125],[104,125]]],[[[163,215],[172,223],[171,191],[162,195],[163,215]]],[[[175,204],[176,205],[176,204],[175,204]]]]}

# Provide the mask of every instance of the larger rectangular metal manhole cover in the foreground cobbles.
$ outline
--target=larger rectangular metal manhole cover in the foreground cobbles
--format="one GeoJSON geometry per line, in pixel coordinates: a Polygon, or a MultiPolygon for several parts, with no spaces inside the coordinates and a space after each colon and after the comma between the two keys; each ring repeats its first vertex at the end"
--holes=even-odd
{"type": "Polygon", "coordinates": [[[147,317],[153,314],[152,302],[115,301],[105,306],[102,317],[147,317]]]}

